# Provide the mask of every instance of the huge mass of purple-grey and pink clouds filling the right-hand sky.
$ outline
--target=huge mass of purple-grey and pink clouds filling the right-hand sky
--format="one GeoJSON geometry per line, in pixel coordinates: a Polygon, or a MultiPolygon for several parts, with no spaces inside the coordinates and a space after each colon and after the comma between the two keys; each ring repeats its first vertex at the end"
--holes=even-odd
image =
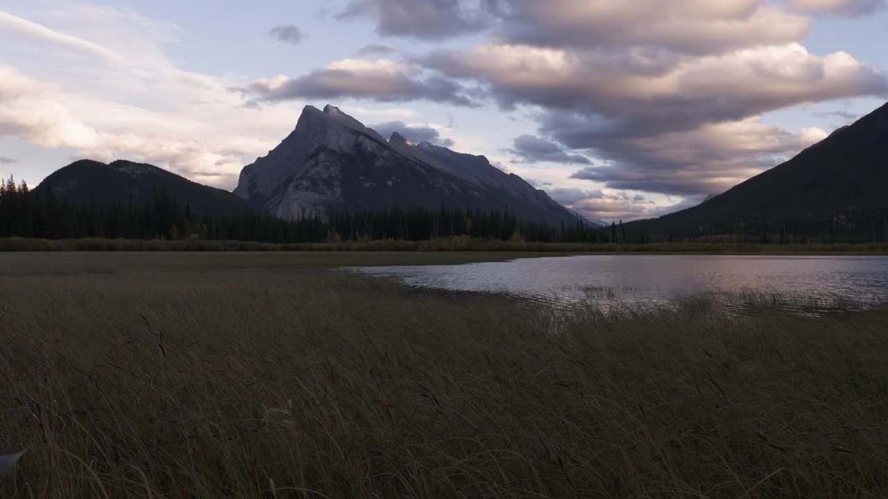
{"type": "Polygon", "coordinates": [[[541,154],[559,154],[560,148],[568,158],[571,149],[583,151],[604,161],[578,178],[611,188],[723,192],[826,135],[817,129],[792,133],[763,123],[762,115],[888,96],[883,72],[844,51],[820,55],[800,44],[811,19],[787,4],[484,5],[499,19],[488,42],[408,60],[485,89],[503,109],[536,109],[537,135],[547,139],[528,136],[523,146],[531,153],[521,157],[535,161],[537,148],[541,154]]]}

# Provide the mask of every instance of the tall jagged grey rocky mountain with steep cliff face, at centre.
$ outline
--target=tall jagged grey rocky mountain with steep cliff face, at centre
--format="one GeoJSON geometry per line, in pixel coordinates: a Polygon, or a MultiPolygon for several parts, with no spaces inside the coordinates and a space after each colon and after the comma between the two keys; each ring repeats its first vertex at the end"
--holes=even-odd
{"type": "Polygon", "coordinates": [[[343,210],[422,206],[509,210],[522,219],[576,217],[484,156],[460,154],[398,133],[386,141],[337,107],[305,107],[281,145],[241,172],[234,194],[281,218],[343,210]]]}

